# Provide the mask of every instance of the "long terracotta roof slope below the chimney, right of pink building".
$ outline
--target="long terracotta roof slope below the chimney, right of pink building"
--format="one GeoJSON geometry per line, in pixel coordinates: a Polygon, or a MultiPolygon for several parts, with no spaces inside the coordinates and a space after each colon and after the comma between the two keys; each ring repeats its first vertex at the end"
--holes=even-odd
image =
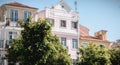
{"type": "Polygon", "coordinates": [[[93,37],[93,36],[80,36],[81,40],[88,40],[88,41],[97,41],[97,42],[106,42],[106,43],[110,43],[110,41],[108,40],[101,40],[97,37],[93,37]]]}

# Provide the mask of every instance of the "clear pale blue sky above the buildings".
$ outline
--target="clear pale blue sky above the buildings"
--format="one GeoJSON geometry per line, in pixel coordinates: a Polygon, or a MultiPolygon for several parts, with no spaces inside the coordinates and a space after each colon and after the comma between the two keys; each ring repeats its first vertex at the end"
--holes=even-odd
{"type": "MultiPolygon", "coordinates": [[[[43,10],[55,5],[60,0],[0,0],[0,5],[8,2],[20,2],[43,10]]],[[[65,0],[74,10],[75,0],[65,0]]],[[[110,41],[120,39],[120,0],[77,0],[79,23],[88,27],[90,34],[99,30],[107,30],[110,41]]]]}

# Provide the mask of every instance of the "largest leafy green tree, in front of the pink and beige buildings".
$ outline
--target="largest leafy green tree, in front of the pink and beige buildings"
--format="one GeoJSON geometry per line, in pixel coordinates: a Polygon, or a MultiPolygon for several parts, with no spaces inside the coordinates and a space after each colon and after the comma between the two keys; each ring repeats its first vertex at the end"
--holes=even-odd
{"type": "Polygon", "coordinates": [[[24,30],[21,37],[13,40],[7,50],[7,58],[21,65],[71,65],[70,56],[59,41],[52,35],[51,24],[48,19],[37,22],[21,23],[24,30]]]}

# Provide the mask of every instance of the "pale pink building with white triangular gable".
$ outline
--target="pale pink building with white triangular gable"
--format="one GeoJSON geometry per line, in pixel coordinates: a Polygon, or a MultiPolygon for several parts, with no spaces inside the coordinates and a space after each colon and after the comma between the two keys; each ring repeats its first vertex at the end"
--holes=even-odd
{"type": "Polygon", "coordinates": [[[53,24],[52,33],[60,38],[74,61],[77,59],[79,46],[78,13],[73,11],[63,0],[52,7],[46,7],[38,13],[38,18],[49,18],[53,24]]]}

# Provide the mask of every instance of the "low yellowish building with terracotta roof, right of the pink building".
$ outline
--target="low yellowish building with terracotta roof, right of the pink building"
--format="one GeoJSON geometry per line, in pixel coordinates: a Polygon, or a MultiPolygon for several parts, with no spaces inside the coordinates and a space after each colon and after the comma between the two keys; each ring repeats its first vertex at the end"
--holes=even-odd
{"type": "Polygon", "coordinates": [[[80,25],[80,45],[86,46],[89,43],[95,43],[105,47],[110,47],[111,42],[107,40],[106,30],[100,30],[94,33],[94,36],[89,35],[89,29],[80,25]]]}

